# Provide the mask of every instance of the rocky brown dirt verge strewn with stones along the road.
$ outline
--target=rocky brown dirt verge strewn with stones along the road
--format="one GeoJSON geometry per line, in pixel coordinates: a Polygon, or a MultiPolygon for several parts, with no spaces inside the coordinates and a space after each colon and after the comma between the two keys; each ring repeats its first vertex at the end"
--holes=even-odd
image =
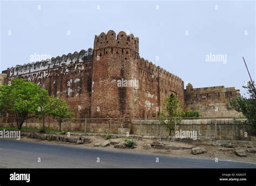
{"type": "MultiPolygon", "coordinates": [[[[72,138],[78,137],[75,135],[72,135],[72,138]]],[[[51,141],[51,140],[41,140],[41,139],[33,139],[33,138],[27,138],[22,137],[22,141],[30,141],[30,142],[44,142],[47,144],[61,144],[61,145],[73,145],[73,146],[79,146],[84,148],[96,148],[96,149],[109,149],[113,151],[122,151],[122,152],[140,152],[140,153],[152,153],[152,154],[164,154],[167,156],[172,157],[190,157],[190,158],[202,158],[202,159],[212,159],[213,161],[215,158],[218,158],[218,160],[232,160],[232,161],[242,161],[242,162],[253,162],[256,163],[256,153],[249,153],[246,150],[252,149],[248,147],[235,147],[239,149],[244,149],[246,152],[246,157],[240,157],[235,155],[234,151],[235,148],[232,148],[233,150],[228,151],[221,151],[221,146],[211,146],[211,145],[199,145],[200,147],[204,147],[207,150],[207,153],[204,154],[197,154],[193,155],[191,154],[191,148],[193,147],[199,147],[198,145],[191,145],[186,144],[184,142],[168,142],[168,141],[155,141],[152,139],[136,139],[136,148],[114,148],[114,145],[109,145],[106,147],[102,147],[101,145],[95,146],[95,144],[104,144],[107,140],[103,136],[86,136],[86,138],[90,138],[91,142],[89,144],[79,144],[72,142],[64,142],[64,141],[51,141]],[[164,144],[164,149],[156,149],[154,146],[147,146],[149,148],[145,149],[145,144],[164,144]],[[144,145],[144,146],[143,146],[144,145]],[[169,149],[166,147],[170,147],[169,149]],[[181,148],[181,149],[180,149],[181,148]]],[[[113,144],[116,144],[116,141],[119,142],[119,144],[124,143],[124,138],[114,138],[110,139],[109,141],[115,141],[113,144]]]]}

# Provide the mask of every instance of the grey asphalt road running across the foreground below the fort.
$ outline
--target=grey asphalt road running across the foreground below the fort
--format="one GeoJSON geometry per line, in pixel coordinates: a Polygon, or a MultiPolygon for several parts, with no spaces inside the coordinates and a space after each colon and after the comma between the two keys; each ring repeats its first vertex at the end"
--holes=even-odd
{"type": "Polygon", "coordinates": [[[220,160],[216,163],[214,159],[176,158],[0,139],[0,168],[256,168],[256,163],[220,160]],[[41,162],[37,162],[38,158],[41,162]]]}

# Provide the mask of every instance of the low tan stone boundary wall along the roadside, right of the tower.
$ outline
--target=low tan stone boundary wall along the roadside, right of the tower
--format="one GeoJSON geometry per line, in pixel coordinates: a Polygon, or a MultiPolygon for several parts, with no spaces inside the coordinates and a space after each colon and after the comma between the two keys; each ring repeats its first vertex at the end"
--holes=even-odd
{"type": "MultiPolygon", "coordinates": [[[[245,119],[184,119],[176,131],[197,131],[198,137],[216,137],[217,140],[251,140],[238,125],[245,119]]],[[[169,135],[158,120],[132,120],[131,133],[138,135],[169,135]]],[[[254,138],[255,139],[255,138],[254,138]]]]}

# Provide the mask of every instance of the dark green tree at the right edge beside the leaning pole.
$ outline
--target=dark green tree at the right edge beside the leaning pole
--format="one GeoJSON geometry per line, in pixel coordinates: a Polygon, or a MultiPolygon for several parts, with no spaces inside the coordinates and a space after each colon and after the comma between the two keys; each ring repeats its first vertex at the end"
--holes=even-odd
{"type": "Polygon", "coordinates": [[[247,118],[247,121],[242,123],[242,127],[251,134],[256,135],[256,92],[254,82],[249,81],[246,89],[249,97],[233,98],[228,102],[227,108],[241,112],[247,118]]]}

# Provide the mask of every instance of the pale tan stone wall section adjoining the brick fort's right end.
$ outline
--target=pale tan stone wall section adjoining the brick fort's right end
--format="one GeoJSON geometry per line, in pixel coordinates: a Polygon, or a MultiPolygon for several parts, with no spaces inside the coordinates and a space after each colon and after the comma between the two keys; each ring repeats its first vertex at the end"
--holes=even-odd
{"type": "Polygon", "coordinates": [[[230,99],[237,96],[240,96],[239,90],[234,87],[193,88],[188,83],[185,90],[185,108],[186,110],[199,110],[200,117],[239,116],[242,114],[233,109],[228,109],[226,106],[230,99]]]}

